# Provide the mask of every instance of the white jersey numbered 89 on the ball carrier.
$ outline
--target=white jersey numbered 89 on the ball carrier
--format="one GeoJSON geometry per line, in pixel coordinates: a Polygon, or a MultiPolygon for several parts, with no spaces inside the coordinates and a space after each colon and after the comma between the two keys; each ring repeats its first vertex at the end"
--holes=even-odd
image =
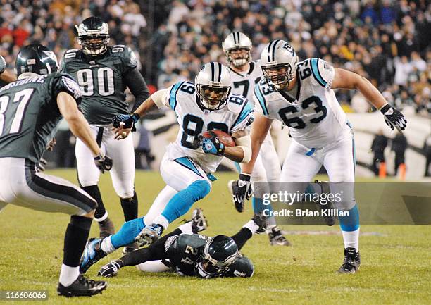
{"type": "Polygon", "coordinates": [[[197,103],[193,82],[177,82],[168,89],[164,104],[175,111],[180,131],[168,147],[171,159],[188,156],[206,173],[213,173],[223,156],[205,154],[197,144],[197,135],[208,130],[223,130],[228,134],[244,130],[253,122],[253,106],[237,94],[230,94],[227,103],[214,111],[202,109],[197,103]]]}

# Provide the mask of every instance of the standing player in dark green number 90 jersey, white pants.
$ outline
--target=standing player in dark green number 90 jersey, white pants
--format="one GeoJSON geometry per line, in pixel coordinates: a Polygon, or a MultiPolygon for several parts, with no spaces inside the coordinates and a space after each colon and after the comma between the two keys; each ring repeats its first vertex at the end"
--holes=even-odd
{"type": "MultiPolygon", "coordinates": [[[[82,49],[65,52],[62,70],[75,77],[82,89],[80,109],[88,120],[92,135],[99,147],[113,158],[111,179],[115,192],[120,197],[125,220],[138,216],[138,199],[135,193],[135,155],[130,130],[123,130],[115,141],[111,130],[112,117],[127,114],[125,89],[135,96],[135,108],[149,97],[149,91],[141,73],[137,70],[137,59],[127,46],[108,46],[108,24],[100,18],[89,17],[77,28],[77,39],[82,49]]],[[[80,186],[94,199],[98,207],[94,219],[99,223],[100,236],[114,232],[108,218],[97,183],[99,170],[92,163],[90,151],[78,139],[75,147],[77,173],[80,186]]],[[[125,251],[135,249],[133,245],[125,251]]]]}

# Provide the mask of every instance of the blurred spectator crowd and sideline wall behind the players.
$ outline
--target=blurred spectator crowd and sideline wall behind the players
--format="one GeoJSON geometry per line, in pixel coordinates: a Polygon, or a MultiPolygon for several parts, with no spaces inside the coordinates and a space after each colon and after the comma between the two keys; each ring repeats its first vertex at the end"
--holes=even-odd
{"type": "MultiPolygon", "coordinates": [[[[0,54],[9,67],[21,46],[39,42],[61,58],[79,48],[75,24],[90,15],[104,19],[111,44],[130,46],[151,92],[181,80],[194,80],[202,63],[225,63],[221,42],[232,31],[251,37],[254,59],[271,39],[286,39],[300,60],[324,58],[353,70],[377,86],[389,103],[408,118],[405,132],[406,178],[425,173],[431,145],[431,5],[420,1],[330,0],[1,0],[0,54]],[[428,141],[426,146],[425,142],[428,141]]],[[[394,174],[389,130],[361,94],[337,91],[337,98],[354,126],[358,175],[371,176],[371,143],[382,130],[389,138],[385,150],[388,175],[394,174]]],[[[129,96],[132,101],[132,97],[129,96]]],[[[137,167],[158,169],[163,147],[175,137],[175,115],[161,111],[149,116],[135,134],[137,167]],[[172,127],[172,129],[171,129],[172,127]],[[170,130],[170,131],[169,131],[170,130]],[[167,132],[168,131],[168,132],[167,132]],[[155,145],[157,143],[157,145],[155,145]],[[156,149],[157,147],[157,149],[156,149]],[[152,162],[153,158],[156,162],[152,162]],[[148,166],[150,164],[150,166],[148,166]]],[[[280,163],[289,145],[286,130],[275,124],[273,136],[280,163]]],[[[58,133],[57,154],[46,154],[49,167],[74,165],[74,139],[67,125],[58,133]]],[[[229,162],[226,168],[233,168],[229,162]]]]}

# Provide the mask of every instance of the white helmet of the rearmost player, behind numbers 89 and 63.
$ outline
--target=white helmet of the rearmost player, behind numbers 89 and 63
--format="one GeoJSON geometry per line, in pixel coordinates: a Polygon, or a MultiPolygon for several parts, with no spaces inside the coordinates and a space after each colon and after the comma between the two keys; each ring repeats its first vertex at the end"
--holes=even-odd
{"type": "Polygon", "coordinates": [[[226,61],[229,66],[244,66],[251,61],[251,40],[242,32],[232,32],[227,35],[225,41],[222,42],[222,47],[223,51],[225,51],[226,61]],[[237,49],[246,49],[247,56],[245,58],[232,58],[230,52],[237,49]]]}

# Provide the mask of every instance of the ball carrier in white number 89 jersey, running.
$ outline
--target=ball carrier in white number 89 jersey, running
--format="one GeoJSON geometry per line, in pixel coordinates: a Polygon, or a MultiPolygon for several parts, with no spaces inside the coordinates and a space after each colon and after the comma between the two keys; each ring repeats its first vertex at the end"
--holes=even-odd
{"type": "Polygon", "coordinates": [[[169,223],[184,215],[195,201],[206,197],[211,181],[215,180],[212,173],[223,156],[240,163],[249,161],[251,147],[246,127],[253,121],[253,107],[245,97],[230,94],[230,84],[225,66],[206,63],[194,83],[177,82],[152,94],[132,115],[113,118],[113,126],[118,127],[117,137],[124,128],[133,127],[140,117],[156,108],[172,108],[180,124],[176,141],[167,147],[161,161],[166,187],[149,213],[137,220],[137,227],[145,227],[136,237],[138,244],[156,241],[169,223]],[[232,135],[237,146],[225,146],[214,132],[211,139],[201,135],[211,130],[232,135]]]}

